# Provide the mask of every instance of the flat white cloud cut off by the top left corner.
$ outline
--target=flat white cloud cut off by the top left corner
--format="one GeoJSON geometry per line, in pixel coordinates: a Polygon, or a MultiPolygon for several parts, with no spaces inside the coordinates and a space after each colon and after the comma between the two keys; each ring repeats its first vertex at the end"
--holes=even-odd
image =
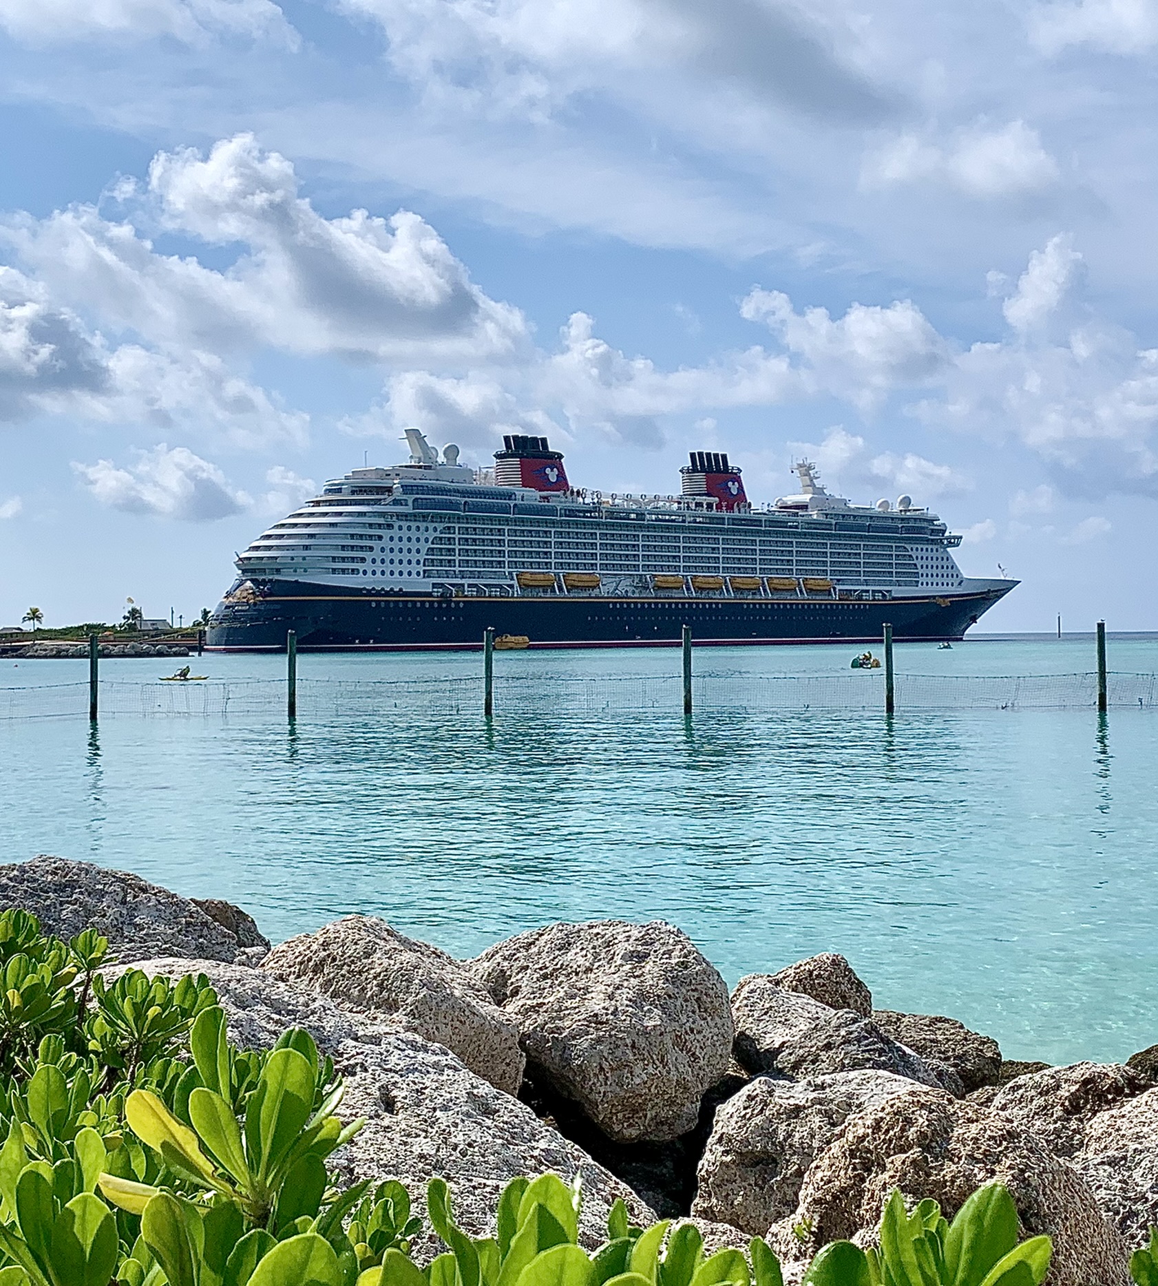
{"type": "Polygon", "coordinates": [[[4,0],[0,27],[32,44],[171,36],[201,45],[214,36],[242,36],[297,45],[270,0],[4,0]]]}

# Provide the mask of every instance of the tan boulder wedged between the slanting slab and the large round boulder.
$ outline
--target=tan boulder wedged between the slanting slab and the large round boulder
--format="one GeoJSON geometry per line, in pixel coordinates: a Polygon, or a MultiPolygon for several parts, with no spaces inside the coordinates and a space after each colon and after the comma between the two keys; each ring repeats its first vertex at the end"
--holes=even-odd
{"type": "Polygon", "coordinates": [[[519,1029],[445,952],[369,916],[346,916],[275,946],[261,967],[445,1046],[497,1089],[517,1094],[519,1029]]]}

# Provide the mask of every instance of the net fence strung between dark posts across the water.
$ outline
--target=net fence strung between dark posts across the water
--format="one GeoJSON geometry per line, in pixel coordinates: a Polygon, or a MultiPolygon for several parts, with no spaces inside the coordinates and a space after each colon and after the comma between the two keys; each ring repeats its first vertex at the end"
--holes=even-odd
{"type": "MultiPolygon", "coordinates": [[[[102,680],[104,716],[201,715],[259,719],[284,716],[283,679],[229,679],[208,683],[131,683],[102,680]]],[[[697,710],[760,712],[775,710],[883,710],[884,673],[713,675],[692,679],[697,710]]],[[[1110,707],[1153,709],[1158,675],[1110,674],[1110,707]]],[[[906,710],[1082,710],[1098,703],[1096,674],[946,675],[899,674],[896,706],[906,710]]],[[[299,679],[300,718],[481,712],[482,679],[299,679]]],[[[495,714],[576,714],[674,711],[683,709],[678,675],[582,678],[499,676],[495,714]]],[[[0,688],[0,720],[86,718],[87,683],[0,688]]]]}

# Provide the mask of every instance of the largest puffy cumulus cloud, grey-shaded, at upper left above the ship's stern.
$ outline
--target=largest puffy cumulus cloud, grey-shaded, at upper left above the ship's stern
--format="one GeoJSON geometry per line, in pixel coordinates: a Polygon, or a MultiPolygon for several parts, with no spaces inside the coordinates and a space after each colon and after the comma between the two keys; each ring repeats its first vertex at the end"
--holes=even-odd
{"type": "Polygon", "coordinates": [[[425,220],[324,219],[299,195],[293,166],[248,134],[208,156],[158,153],[135,217],[241,253],[226,270],[162,255],[131,220],[93,206],[9,220],[3,235],[60,297],[154,342],[461,363],[526,341],[519,310],[488,298],[425,220]]]}

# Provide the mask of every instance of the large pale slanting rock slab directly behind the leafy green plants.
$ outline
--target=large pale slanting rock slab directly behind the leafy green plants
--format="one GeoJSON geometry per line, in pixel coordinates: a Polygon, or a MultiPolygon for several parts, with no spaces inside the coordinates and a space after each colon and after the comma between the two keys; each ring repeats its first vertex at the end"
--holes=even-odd
{"type": "MultiPolygon", "coordinates": [[[[606,1237],[607,1211],[616,1197],[627,1202],[633,1220],[654,1222],[654,1213],[630,1188],[529,1107],[476,1076],[449,1049],[395,1021],[358,1013],[264,970],[174,958],[136,967],[149,975],[206,974],[239,1044],[268,1048],[287,1026],[313,1034],[345,1078],[340,1115],[367,1119],[363,1132],[329,1161],[346,1182],[400,1179],[416,1213],[425,1217],[426,1184],[440,1174],[450,1184],[455,1218],[479,1237],[494,1235],[495,1206],[510,1179],[555,1170],[570,1182],[579,1173],[585,1245],[606,1237]]],[[[432,1249],[439,1247],[419,1247],[432,1249]]]]}

